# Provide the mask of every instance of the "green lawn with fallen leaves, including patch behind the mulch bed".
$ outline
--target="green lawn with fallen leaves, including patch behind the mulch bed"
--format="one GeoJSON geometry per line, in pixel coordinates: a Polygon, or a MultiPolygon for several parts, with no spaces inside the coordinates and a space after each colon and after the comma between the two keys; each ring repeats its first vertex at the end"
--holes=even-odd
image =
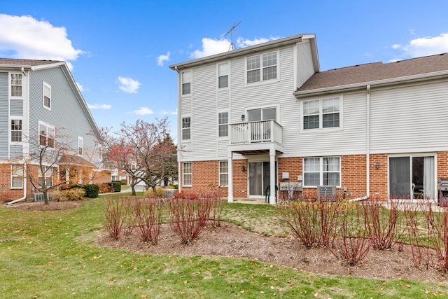
{"type": "MultiPolygon", "coordinates": [[[[151,255],[98,246],[106,200],[66,211],[0,207],[1,298],[426,298],[446,284],[313,274],[221,256],[151,255]]],[[[225,204],[244,228],[283,228],[269,205],[225,204]],[[269,225],[267,225],[268,227],[269,225]]],[[[268,232],[266,232],[268,233],[268,232]]],[[[270,232],[269,232],[270,233],[270,232]]]]}

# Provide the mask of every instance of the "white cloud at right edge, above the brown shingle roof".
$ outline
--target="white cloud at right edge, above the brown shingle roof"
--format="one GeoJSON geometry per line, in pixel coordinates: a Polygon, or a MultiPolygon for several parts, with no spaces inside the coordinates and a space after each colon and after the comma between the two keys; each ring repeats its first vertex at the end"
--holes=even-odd
{"type": "Polygon", "coordinates": [[[448,33],[442,33],[440,36],[413,39],[405,46],[393,45],[392,48],[402,50],[405,58],[447,53],[448,33]]]}

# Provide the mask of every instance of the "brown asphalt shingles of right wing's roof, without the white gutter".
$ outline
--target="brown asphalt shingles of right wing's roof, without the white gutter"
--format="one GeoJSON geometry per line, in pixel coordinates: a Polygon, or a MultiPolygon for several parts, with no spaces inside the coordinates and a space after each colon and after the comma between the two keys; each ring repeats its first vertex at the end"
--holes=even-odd
{"type": "Polygon", "coordinates": [[[317,90],[356,83],[448,71],[448,53],[400,60],[383,64],[374,62],[315,73],[297,91],[317,90]]]}

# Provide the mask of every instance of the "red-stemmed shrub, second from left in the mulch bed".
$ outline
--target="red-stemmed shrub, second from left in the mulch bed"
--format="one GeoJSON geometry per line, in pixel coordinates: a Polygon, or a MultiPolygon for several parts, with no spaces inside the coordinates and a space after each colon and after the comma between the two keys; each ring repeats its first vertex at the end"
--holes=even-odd
{"type": "Polygon", "coordinates": [[[139,197],[134,209],[134,223],[140,239],[157,245],[162,225],[163,205],[155,198],[139,197]]]}

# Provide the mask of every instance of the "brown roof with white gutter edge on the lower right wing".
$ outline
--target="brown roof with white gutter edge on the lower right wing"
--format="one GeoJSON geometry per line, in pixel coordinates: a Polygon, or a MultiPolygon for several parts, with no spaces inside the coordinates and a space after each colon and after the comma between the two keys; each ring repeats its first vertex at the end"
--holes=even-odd
{"type": "Polygon", "coordinates": [[[315,73],[294,95],[300,97],[318,92],[360,88],[368,84],[386,85],[445,75],[448,75],[448,53],[386,64],[374,62],[315,73]]]}

